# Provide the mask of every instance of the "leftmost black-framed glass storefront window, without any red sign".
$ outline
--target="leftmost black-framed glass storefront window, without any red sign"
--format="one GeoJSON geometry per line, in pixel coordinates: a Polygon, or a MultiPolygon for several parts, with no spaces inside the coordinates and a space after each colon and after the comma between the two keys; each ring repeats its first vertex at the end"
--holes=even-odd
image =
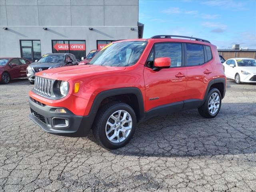
{"type": "Polygon", "coordinates": [[[35,61],[41,57],[40,40],[20,40],[20,55],[30,61],[35,61]]]}

